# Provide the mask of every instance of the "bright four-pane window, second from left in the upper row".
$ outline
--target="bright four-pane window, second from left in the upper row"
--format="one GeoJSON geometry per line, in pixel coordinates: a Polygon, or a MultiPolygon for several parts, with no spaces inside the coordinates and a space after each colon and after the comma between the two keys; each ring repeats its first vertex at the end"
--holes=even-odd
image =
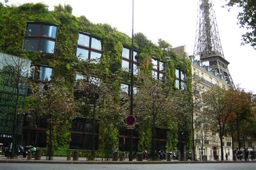
{"type": "Polygon", "coordinates": [[[80,60],[98,60],[102,57],[102,41],[90,34],[79,32],[77,44],[77,57],[80,60]]]}

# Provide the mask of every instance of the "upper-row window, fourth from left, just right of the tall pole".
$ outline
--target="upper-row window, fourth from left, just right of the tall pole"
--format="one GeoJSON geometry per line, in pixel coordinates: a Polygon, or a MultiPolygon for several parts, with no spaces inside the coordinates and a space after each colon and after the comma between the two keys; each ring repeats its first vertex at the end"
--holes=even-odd
{"type": "Polygon", "coordinates": [[[152,77],[159,80],[164,80],[165,77],[165,63],[163,61],[152,58],[153,70],[152,77]]]}

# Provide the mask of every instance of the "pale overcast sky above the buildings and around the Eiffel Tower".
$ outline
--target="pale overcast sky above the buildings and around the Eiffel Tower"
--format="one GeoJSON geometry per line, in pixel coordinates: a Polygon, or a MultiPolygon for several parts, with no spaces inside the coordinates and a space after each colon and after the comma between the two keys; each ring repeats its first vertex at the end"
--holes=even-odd
{"type": "MultiPolygon", "coordinates": [[[[1,0],[1,2],[3,2],[1,0]]],[[[8,4],[43,2],[53,10],[53,5],[70,4],[73,15],[84,15],[92,23],[107,23],[118,31],[132,34],[132,0],[9,0],[8,4]]],[[[196,38],[199,0],[134,0],[134,33],[142,32],[157,43],[159,38],[173,47],[186,45],[188,55],[193,55],[196,38]]],[[[230,12],[221,8],[225,0],[214,0],[214,10],[224,56],[230,62],[233,82],[246,91],[256,93],[256,50],[250,45],[240,46],[241,35],[246,30],[237,25],[239,9],[230,12]]]]}

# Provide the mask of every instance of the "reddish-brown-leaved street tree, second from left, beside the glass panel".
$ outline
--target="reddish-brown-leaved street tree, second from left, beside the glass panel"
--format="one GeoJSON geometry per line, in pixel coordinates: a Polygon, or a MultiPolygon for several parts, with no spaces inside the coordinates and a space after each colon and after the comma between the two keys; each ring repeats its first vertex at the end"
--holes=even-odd
{"type": "Polygon", "coordinates": [[[71,119],[76,116],[75,100],[70,94],[70,89],[66,88],[63,82],[64,80],[59,78],[44,84],[43,88],[39,84],[31,83],[32,94],[25,111],[31,123],[36,118],[46,119],[49,160],[53,156],[53,143],[58,142],[54,133],[62,134],[63,127],[69,126],[71,119]]]}

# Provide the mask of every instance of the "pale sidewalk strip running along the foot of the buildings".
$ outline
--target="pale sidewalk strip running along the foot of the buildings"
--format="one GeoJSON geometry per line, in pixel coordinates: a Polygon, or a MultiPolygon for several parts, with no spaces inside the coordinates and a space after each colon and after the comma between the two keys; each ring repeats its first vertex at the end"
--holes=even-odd
{"type": "MultiPolygon", "coordinates": [[[[232,163],[232,162],[241,162],[245,163],[245,161],[178,161],[178,160],[159,160],[159,161],[151,161],[151,160],[143,160],[137,161],[133,159],[133,161],[129,161],[128,158],[124,159],[123,161],[106,161],[102,158],[96,158],[95,161],[87,161],[87,158],[79,157],[78,161],[73,161],[72,158],[70,161],[66,160],[66,157],[53,157],[53,160],[46,160],[45,156],[41,157],[41,160],[28,160],[27,158],[18,157],[18,159],[7,159],[6,157],[0,156],[0,163],[32,163],[32,164],[207,164],[207,163],[232,163]]],[[[256,161],[247,161],[247,162],[255,162],[256,161]]]]}

